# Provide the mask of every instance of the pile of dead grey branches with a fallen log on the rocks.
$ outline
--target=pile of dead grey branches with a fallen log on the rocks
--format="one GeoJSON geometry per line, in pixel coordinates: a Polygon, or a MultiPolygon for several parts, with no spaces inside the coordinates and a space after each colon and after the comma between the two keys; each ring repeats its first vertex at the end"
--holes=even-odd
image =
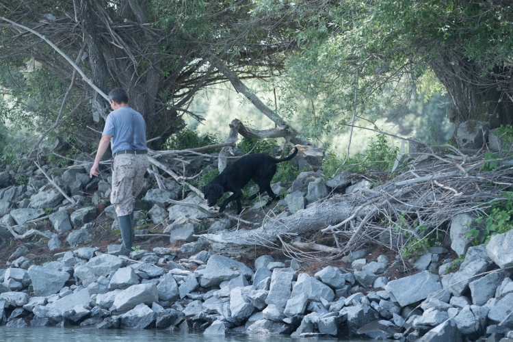
{"type": "MultiPolygon", "coordinates": [[[[454,215],[485,215],[492,200],[511,192],[513,158],[485,159],[484,152],[473,152],[469,155],[453,146],[433,146],[423,153],[405,155],[403,170],[407,171],[373,189],[336,194],[288,218],[269,218],[254,230],[204,236],[226,246],[277,247],[279,240],[294,257],[308,257],[310,253],[287,240],[321,231],[334,236],[339,254],[371,241],[402,252],[406,244],[447,233],[447,223],[454,215]],[[486,171],[490,163],[497,163],[496,167],[486,171]]],[[[365,176],[376,179],[373,174],[365,176]]]]}

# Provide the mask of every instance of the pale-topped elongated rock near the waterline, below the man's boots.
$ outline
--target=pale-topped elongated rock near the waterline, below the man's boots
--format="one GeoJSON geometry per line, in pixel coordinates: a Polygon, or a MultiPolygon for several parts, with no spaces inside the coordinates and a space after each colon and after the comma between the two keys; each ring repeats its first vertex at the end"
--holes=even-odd
{"type": "Polygon", "coordinates": [[[127,313],[141,303],[151,305],[153,302],[158,301],[159,293],[155,285],[132,285],[128,289],[116,294],[116,298],[114,298],[114,303],[112,304],[110,311],[113,315],[120,315],[122,313],[127,313]]]}

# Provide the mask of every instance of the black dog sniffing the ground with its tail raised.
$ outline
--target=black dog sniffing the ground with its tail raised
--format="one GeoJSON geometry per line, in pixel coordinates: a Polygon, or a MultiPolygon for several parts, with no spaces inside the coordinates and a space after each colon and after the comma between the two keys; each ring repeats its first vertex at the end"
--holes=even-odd
{"type": "Polygon", "coordinates": [[[270,205],[278,196],[274,194],[271,189],[272,177],[276,173],[276,163],[290,160],[297,154],[298,148],[295,148],[294,152],[289,155],[289,157],[282,159],[276,159],[263,153],[242,157],[231,166],[228,166],[228,168],[225,168],[219,176],[205,185],[205,200],[207,200],[207,205],[213,207],[225,192],[233,192],[230,197],[224,200],[219,208],[219,212],[222,213],[224,209],[226,209],[226,205],[235,200],[237,202],[237,213],[241,213],[241,189],[244,185],[248,184],[250,180],[253,180],[254,183],[259,185],[259,191],[257,194],[251,195],[248,199],[252,200],[260,194],[267,192],[270,199],[265,205],[270,205]]]}

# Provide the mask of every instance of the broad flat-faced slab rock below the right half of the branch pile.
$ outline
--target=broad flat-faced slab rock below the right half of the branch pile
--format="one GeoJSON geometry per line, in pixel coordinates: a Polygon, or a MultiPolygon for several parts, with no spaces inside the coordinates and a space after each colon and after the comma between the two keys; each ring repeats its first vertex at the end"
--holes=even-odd
{"type": "Polygon", "coordinates": [[[428,295],[441,289],[442,285],[438,282],[438,276],[431,274],[429,271],[392,280],[385,286],[385,291],[392,293],[400,306],[408,306],[425,300],[428,295]]]}

